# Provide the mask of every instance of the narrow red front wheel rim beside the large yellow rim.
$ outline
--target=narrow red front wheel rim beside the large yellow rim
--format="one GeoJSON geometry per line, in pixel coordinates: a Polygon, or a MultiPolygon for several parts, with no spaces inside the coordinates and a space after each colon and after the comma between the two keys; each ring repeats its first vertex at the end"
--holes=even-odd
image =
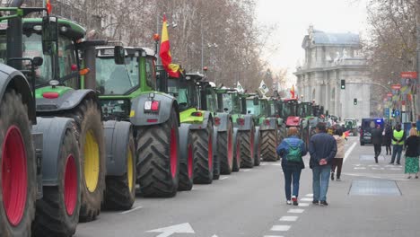
{"type": "Polygon", "coordinates": [[[77,203],[77,169],[73,155],[68,155],[65,171],[65,205],[67,215],[73,215],[77,203]]]}

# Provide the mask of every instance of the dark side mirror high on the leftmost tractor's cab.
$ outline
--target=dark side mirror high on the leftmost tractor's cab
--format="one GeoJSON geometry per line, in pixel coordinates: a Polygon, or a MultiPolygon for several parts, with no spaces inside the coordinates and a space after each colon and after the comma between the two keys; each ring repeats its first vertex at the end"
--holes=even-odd
{"type": "Polygon", "coordinates": [[[45,55],[52,55],[55,51],[54,45],[58,41],[58,20],[55,16],[44,16],[42,18],[42,52],[45,55]]]}

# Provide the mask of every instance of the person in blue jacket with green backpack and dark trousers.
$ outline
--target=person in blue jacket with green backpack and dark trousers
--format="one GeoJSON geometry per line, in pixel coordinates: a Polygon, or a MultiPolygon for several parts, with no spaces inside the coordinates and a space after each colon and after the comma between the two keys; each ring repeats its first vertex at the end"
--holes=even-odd
{"type": "Polygon", "coordinates": [[[305,168],[302,156],[307,154],[306,147],[302,139],[298,137],[298,129],[289,127],[287,138],[277,146],[277,154],[282,157],[282,170],[284,173],[284,193],[286,203],[294,206],[298,205],[299,180],[301,179],[302,169],[305,168]],[[292,194],[293,183],[293,194],[292,194]]]}

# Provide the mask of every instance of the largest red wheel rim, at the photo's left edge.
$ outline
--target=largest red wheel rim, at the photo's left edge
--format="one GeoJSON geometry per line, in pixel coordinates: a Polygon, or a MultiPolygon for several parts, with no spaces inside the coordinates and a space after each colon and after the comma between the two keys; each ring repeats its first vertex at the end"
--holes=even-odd
{"type": "Polygon", "coordinates": [[[2,157],[3,206],[9,223],[17,226],[26,206],[28,176],[26,149],[16,126],[9,127],[4,136],[2,157]]]}

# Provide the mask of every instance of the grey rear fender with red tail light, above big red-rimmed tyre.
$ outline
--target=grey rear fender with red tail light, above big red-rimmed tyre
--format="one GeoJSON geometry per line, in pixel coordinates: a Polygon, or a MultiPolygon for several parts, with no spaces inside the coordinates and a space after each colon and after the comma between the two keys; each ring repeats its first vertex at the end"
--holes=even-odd
{"type": "Polygon", "coordinates": [[[171,117],[172,108],[175,108],[179,116],[178,103],[169,94],[154,92],[153,101],[159,101],[159,110],[157,112],[144,112],[145,101],[151,101],[148,93],[141,94],[131,100],[130,122],[135,126],[162,124],[171,117]]]}

